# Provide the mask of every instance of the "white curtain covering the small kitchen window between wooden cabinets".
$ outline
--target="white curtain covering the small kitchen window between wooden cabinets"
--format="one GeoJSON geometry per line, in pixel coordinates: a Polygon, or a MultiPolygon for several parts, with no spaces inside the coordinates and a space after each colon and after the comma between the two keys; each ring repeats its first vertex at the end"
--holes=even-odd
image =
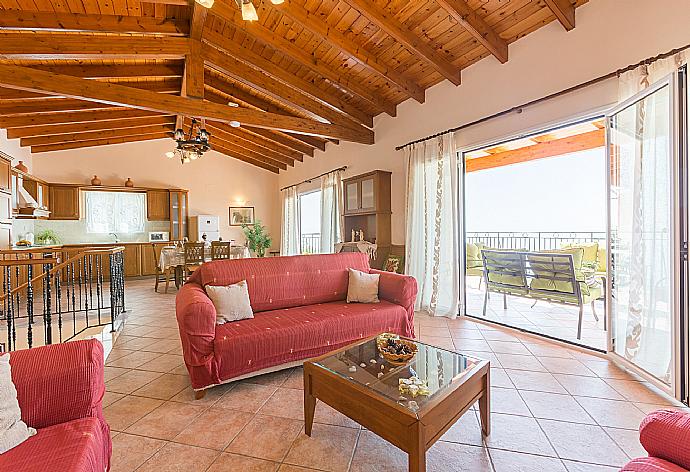
{"type": "Polygon", "coordinates": [[[87,233],[143,233],[146,195],[135,192],[84,192],[87,233]]]}

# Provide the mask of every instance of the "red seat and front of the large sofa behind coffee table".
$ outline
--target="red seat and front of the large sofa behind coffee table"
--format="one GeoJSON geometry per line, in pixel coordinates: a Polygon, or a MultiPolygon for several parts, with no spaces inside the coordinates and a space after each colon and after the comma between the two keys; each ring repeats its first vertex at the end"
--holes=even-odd
{"type": "Polygon", "coordinates": [[[216,326],[216,380],[325,354],[383,332],[413,335],[403,307],[385,300],[338,301],[257,313],[216,326]]]}

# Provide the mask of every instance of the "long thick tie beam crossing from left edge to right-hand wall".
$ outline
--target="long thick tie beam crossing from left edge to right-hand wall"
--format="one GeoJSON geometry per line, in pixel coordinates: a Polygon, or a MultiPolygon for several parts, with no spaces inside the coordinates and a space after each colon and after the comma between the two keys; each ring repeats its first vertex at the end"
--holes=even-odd
{"type": "Polygon", "coordinates": [[[165,114],[197,116],[224,123],[239,121],[246,126],[343,139],[362,144],[374,142],[373,131],[363,127],[360,131],[337,124],[231,108],[212,102],[204,102],[203,106],[199,106],[198,100],[186,97],[137,90],[15,65],[0,65],[0,86],[165,114]]]}

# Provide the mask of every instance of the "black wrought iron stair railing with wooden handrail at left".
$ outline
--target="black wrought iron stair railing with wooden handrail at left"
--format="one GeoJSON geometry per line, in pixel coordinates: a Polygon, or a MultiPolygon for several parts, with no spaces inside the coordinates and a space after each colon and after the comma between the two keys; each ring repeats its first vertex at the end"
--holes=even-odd
{"type": "Polygon", "coordinates": [[[0,351],[116,330],[125,311],[124,248],[85,249],[64,262],[59,254],[0,252],[0,351]]]}

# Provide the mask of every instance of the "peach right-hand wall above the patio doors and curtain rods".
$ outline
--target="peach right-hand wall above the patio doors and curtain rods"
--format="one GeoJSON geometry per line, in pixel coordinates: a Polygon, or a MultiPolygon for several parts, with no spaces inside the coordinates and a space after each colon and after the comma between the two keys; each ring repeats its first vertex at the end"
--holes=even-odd
{"type": "MultiPolygon", "coordinates": [[[[393,172],[393,243],[405,238],[405,172],[395,146],[471,122],[566,89],[650,56],[690,43],[690,0],[590,0],[577,9],[577,26],[566,32],[558,22],[510,45],[510,59],[493,57],[465,69],[462,85],[444,81],[426,92],[426,102],[407,100],[398,117],[375,119],[376,144],[329,145],[325,153],[280,175],[290,185],[341,165],[346,175],[372,169],[393,172]]],[[[617,98],[615,80],[468,129],[460,145],[476,144],[564,120],[617,98]]]]}

